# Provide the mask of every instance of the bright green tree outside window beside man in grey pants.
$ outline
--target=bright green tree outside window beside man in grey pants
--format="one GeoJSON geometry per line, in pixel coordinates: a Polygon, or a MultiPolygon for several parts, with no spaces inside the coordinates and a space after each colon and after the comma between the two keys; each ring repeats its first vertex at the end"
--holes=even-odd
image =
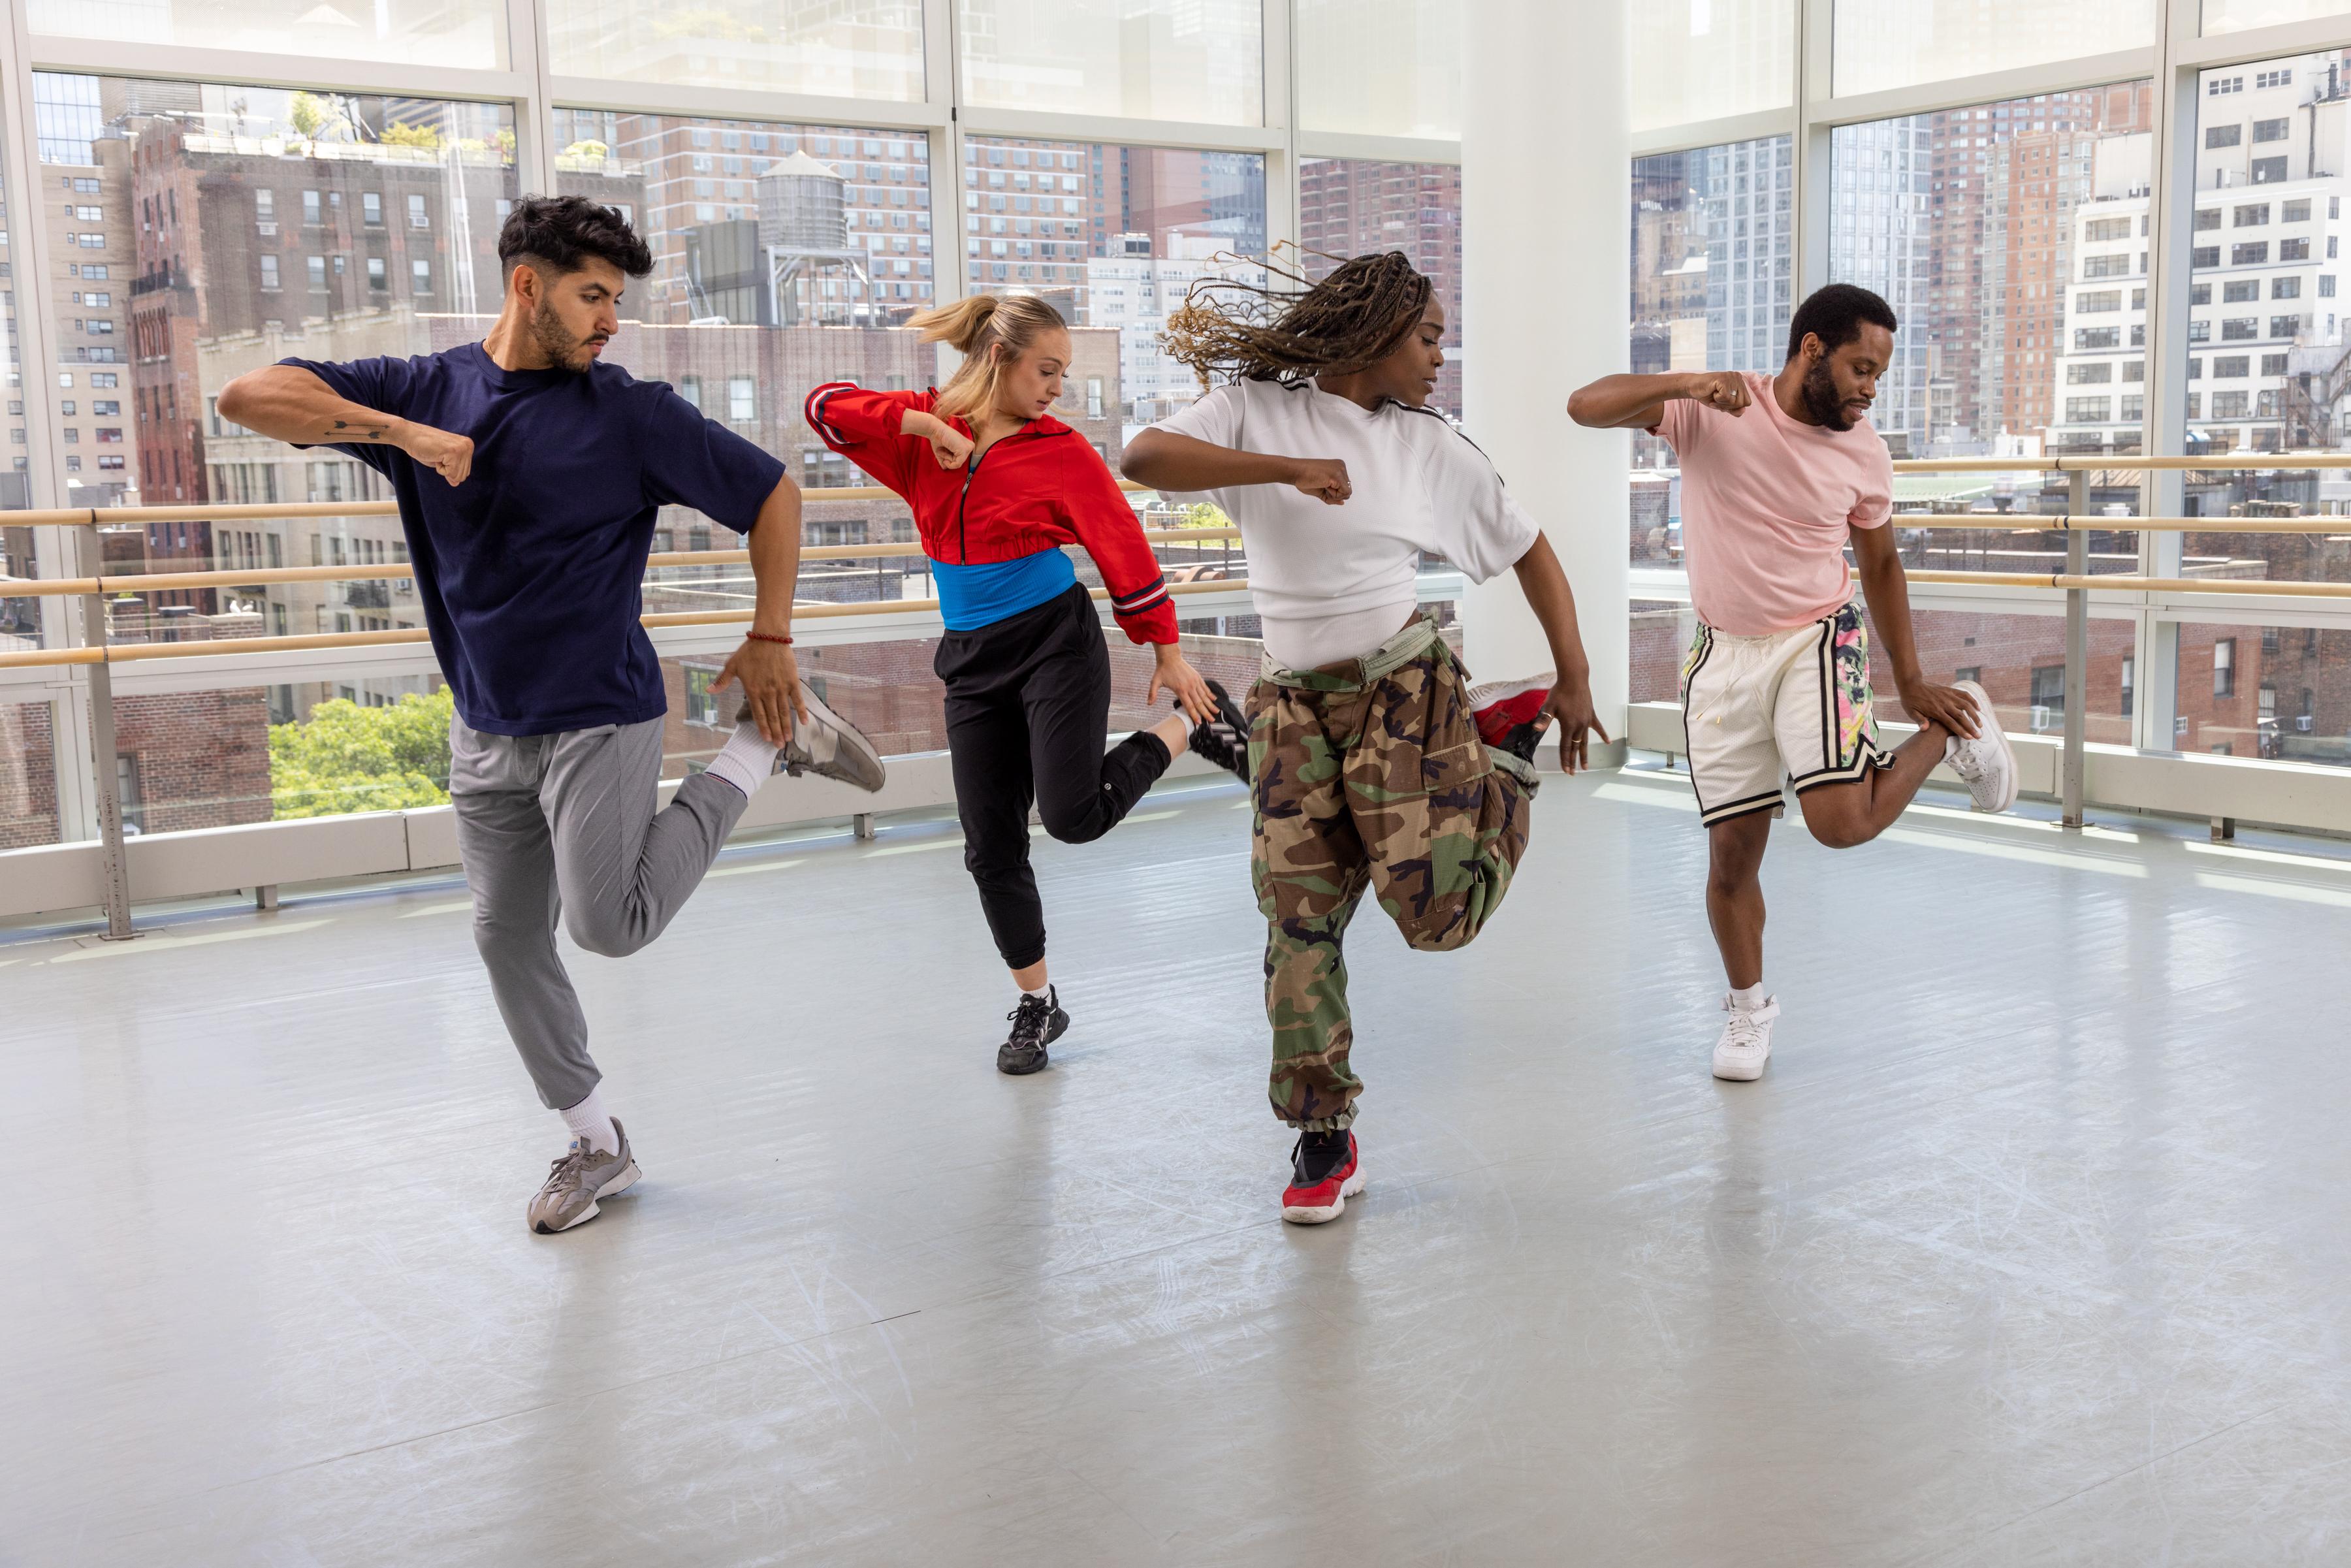
{"type": "Polygon", "coordinates": [[[390,708],[336,698],[308,724],[270,724],[273,816],[346,816],[449,804],[449,689],[390,708]]]}

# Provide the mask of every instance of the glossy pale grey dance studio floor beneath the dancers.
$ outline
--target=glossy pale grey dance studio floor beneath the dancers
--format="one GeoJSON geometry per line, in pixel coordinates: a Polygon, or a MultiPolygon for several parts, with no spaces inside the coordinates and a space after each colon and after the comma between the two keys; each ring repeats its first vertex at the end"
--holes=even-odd
{"type": "Polygon", "coordinates": [[[1039,849],[1034,1079],[952,823],[731,851],[567,1237],[463,886],[0,943],[0,1563],[2351,1561],[2351,844],[1784,823],[1733,1086],[1686,788],[1554,778],[1298,1229],[1246,823],[1039,849]]]}

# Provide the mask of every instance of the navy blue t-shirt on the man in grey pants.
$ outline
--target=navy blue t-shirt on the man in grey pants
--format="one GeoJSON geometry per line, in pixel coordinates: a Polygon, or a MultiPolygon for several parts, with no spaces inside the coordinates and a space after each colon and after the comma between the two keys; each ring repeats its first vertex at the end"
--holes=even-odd
{"type": "Polygon", "coordinates": [[[783,463],[663,381],[498,369],[480,343],[414,360],[280,360],[360,407],[473,437],[451,487],[397,447],[336,444],[393,482],[433,651],[458,717],[491,736],[668,712],[637,625],[661,505],[748,534],[783,463]]]}

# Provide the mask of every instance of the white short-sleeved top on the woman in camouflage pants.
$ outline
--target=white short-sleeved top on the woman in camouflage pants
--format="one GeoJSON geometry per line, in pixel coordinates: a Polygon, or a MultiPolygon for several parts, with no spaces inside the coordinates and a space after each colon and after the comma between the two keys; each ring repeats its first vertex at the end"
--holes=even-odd
{"type": "Polygon", "coordinates": [[[1364,409],[1314,383],[1241,381],[1159,428],[1239,451],[1347,463],[1354,496],[1345,505],[1288,484],[1168,491],[1171,501],[1220,505],[1241,524],[1265,651],[1293,670],[1361,658],[1394,637],[1418,604],[1422,550],[1483,583],[1516,567],[1540,536],[1486,454],[1429,409],[1364,409]]]}

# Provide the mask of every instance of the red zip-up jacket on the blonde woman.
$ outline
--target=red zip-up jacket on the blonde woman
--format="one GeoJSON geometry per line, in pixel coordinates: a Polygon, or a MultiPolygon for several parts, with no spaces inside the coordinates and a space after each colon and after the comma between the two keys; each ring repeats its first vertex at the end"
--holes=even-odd
{"type": "MultiPolygon", "coordinates": [[[[931,442],[903,435],[907,409],[929,414],[938,390],[868,393],[828,381],[809,393],[809,428],[915,508],[922,550],[950,567],[1013,562],[1084,545],[1103,569],[1110,609],[1133,642],[1176,642],[1159,557],[1136,510],[1086,437],[1051,414],[999,437],[976,463],[940,468],[931,442]]],[[[947,416],[964,435],[971,421],[947,416]]]]}

